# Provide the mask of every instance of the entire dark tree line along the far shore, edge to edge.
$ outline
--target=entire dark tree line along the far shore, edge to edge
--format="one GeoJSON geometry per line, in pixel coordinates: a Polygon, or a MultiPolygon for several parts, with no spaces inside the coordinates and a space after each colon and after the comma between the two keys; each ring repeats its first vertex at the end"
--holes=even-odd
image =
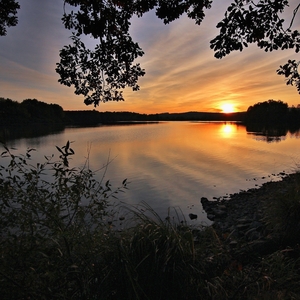
{"type": "Polygon", "coordinates": [[[250,106],[247,112],[238,113],[158,113],[99,112],[96,110],[64,111],[58,104],[47,104],[37,99],[19,103],[0,98],[0,125],[58,125],[97,126],[119,122],[159,121],[240,121],[248,127],[300,127],[300,105],[288,107],[280,100],[268,100],[250,106]]]}

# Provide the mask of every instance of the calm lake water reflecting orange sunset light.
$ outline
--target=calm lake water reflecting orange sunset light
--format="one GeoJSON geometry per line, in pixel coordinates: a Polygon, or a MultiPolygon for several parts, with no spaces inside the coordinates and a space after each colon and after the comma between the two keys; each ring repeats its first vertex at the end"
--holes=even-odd
{"type": "MultiPolygon", "coordinates": [[[[92,170],[109,160],[105,178],[113,187],[127,178],[128,190],[119,200],[148,203],[165,217],[169,207],[179,207],[188,222],[210,224],[201,197],[215,199],[279,180],[300,163],[299,133],[266,139],[247,133],[238,123],[162,122],[66,128],[57,134],[7,142],[24,153],[36,148],[36,161],[58,152],[55,146],[71,141],[75,151],[71,166],[82,166],[89,157],[92,170]],[[272,141],[272,142],[270,142],[272,141]],[[198,216],[189,220],[190,213],[198,216]]],[[[113,201],[113,200],[112,200],[113,201]]]]}

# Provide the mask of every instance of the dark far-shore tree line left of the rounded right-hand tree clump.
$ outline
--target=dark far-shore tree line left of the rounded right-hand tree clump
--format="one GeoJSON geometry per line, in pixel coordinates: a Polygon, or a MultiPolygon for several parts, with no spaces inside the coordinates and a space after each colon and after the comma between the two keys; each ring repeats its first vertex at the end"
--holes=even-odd
{"type": "Polygon", "coordinates": [[[0,98],[0,126],[58,125],[97,126],[119,122],[159,121],[243,121],[245,112],[240,113],[159,113],[139,114],[134,112],[99,112],[96,110],[64,111],[58,104],[47,104],[37,99],[26,99],[19,103],[0,98]]]}

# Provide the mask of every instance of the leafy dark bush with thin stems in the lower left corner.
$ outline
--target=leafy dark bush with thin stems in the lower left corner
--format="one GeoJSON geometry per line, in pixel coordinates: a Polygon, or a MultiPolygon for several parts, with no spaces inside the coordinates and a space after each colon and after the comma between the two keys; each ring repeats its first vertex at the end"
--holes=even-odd
{"type": "Polygon", "coordinates": [[[68,142],[60,160],[30,164],[33,149],[16,156],[5,147],[0,172],[2,299],[84,299],[96,280],[113,218],[111,184],[86,166],[70,168],[68,142]]]}

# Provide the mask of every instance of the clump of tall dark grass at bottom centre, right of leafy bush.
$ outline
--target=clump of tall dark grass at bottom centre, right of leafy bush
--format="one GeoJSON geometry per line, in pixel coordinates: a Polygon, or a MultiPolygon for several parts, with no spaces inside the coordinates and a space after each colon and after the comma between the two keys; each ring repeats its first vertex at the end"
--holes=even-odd
{"type": "Polygon", "coordinates": [[[201,280],[192,230],[185,222],[160,219],[145,203],[142,208],[130,211],[134,226],[123,231],[117,243],[109,278],[116,295],[189,299],[189,290],[193,287],[195,294],[201,280]]]}

